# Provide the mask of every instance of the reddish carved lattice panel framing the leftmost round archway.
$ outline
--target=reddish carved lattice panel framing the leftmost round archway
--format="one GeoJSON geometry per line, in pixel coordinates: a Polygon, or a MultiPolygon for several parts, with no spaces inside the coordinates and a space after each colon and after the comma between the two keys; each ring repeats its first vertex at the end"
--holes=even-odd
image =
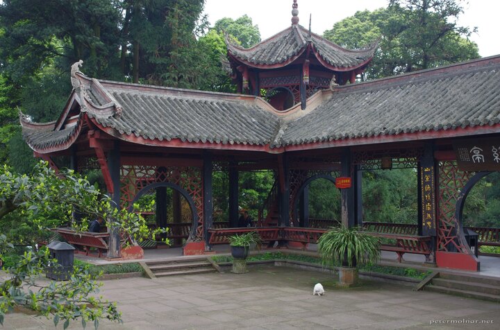
{"type": "Polygon", "coordinates": [[[122,166],[120,168],[120,206],[128,208],[141,189],[157,182],[176,184],[187,191],[194,202],[198,216],[194,241],[203,240],[203,180],[200,168],[122,166]]]}

